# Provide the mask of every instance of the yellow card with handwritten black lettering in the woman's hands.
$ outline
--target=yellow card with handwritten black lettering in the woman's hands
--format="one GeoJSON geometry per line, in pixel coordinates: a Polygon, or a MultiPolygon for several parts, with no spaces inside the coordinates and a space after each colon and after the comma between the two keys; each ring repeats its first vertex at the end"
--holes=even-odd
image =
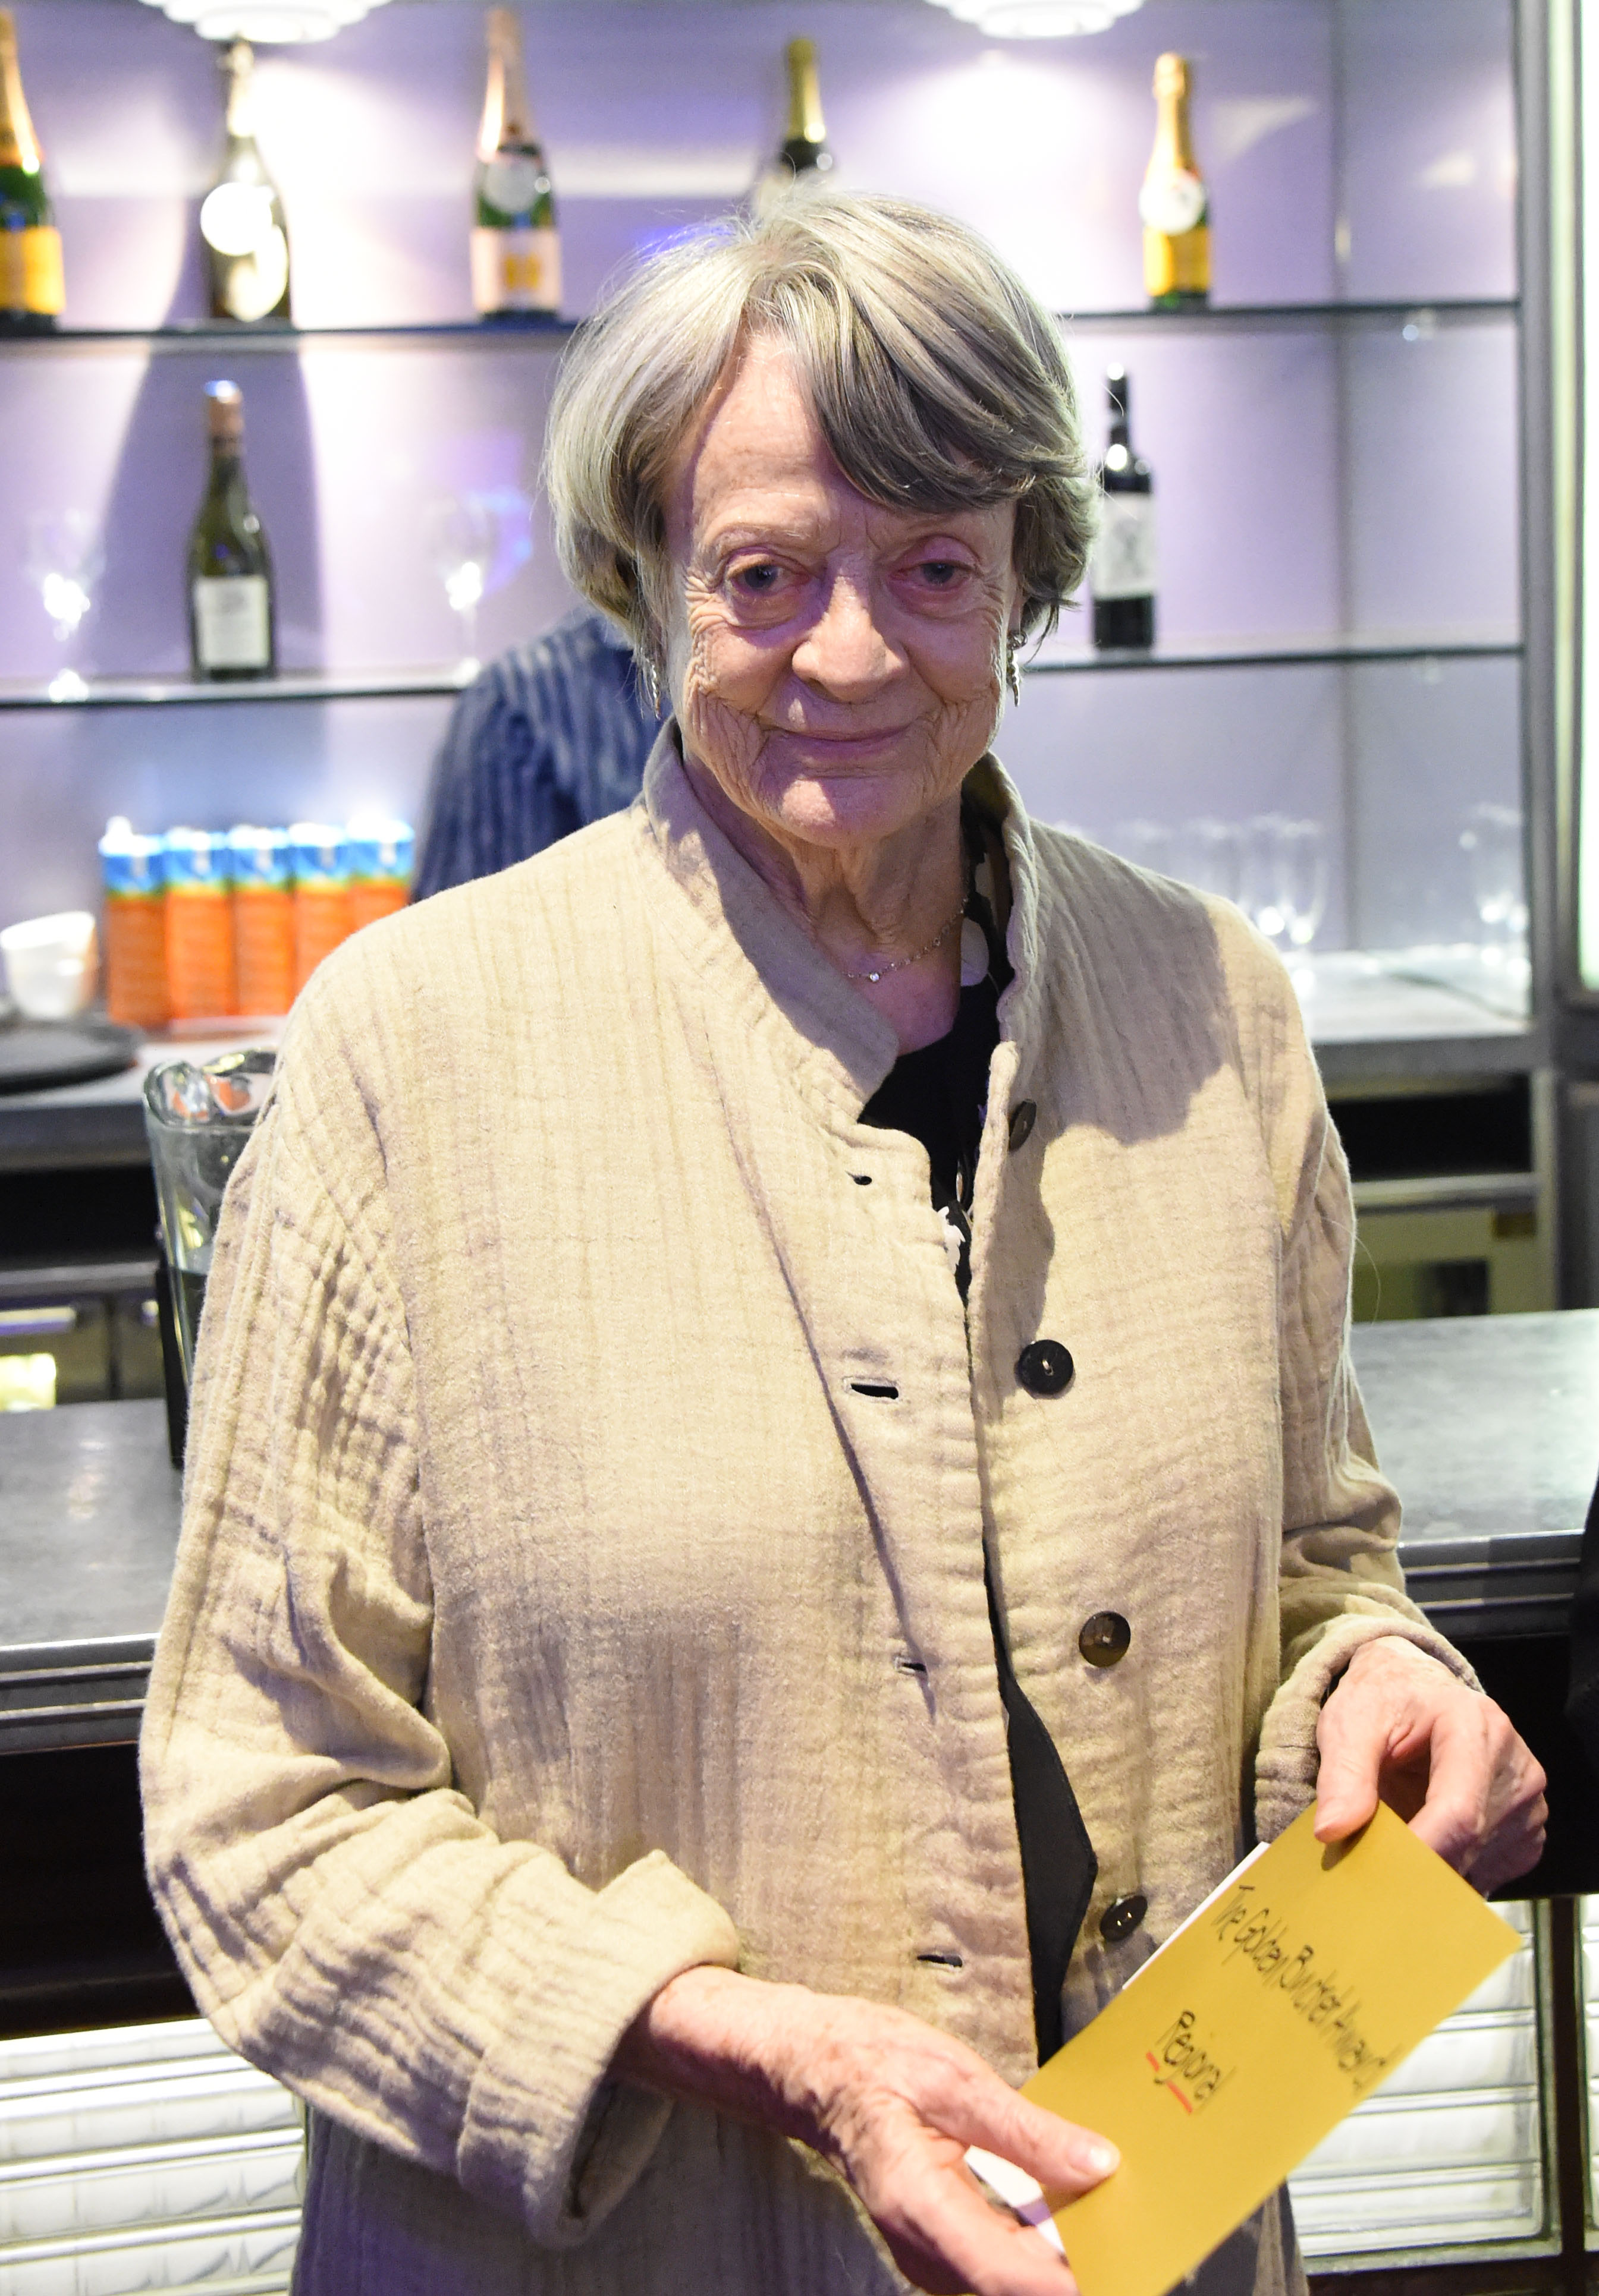
{"type": "Polygon", "coordinates": [[[1388,1807],[1328,1848],[1307,1809],[1245,1857],[1022,2089],[1121,2149],[1055,2209],[1082,2296],[1165,2296],[1519,1942],[1388,1807]]]}

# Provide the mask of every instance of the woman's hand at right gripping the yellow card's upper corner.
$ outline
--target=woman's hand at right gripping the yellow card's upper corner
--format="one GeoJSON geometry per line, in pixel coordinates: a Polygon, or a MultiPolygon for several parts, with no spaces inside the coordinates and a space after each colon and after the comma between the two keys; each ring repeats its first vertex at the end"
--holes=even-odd
{"type": "Polygon", "coordinates": [[[1342,1841],[1378,1798],[1477,1890],[1544,1855],[1542,1766],[1509,1717],[1401,1635],[1362,1642],[1316,1724],[1316,1839],[1342,1841]]]}

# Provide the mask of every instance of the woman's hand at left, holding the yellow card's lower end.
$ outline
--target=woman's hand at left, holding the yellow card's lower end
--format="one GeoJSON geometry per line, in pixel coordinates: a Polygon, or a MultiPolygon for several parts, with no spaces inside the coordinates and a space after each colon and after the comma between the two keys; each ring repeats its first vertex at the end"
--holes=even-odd
{"type": "Polygon", "coordinates": [[[1048,2193],[1087,2193],[1117,2149],[903,2009],[685,1970],[627,2030],[613,2071],[811,2144],[930,2296],[1075,2296],[1057,2250],[983,2197],[965,2149],[1013,2161],[1048,2193]]]}

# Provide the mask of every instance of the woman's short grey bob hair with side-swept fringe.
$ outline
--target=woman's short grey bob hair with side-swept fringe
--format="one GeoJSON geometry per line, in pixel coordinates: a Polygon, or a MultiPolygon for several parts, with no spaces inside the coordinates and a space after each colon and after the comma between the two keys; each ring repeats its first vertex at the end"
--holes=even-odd
{"type": "Polygon", "coordinates": [[[786,193],[687,234],[607,296],[565,356],[544,484],[561,565],[659,675],[666,489],[751,335],[793,351],[827,448],[891,510],[1015,503],[1022,634],[1082,581],[1096,482],[1059,333],[995,250],[910,200],[786,193]]]}

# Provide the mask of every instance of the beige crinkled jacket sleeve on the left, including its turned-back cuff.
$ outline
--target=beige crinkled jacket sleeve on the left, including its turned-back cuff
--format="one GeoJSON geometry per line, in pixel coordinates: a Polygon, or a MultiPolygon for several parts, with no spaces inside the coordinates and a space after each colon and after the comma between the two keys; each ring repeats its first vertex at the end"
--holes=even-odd
{"type": "Polygon", "coordinates": [[[607,2080],[620,2034],[737,1933],[664,1855],[588,1890],[453,1786],[384,1159],[315,1006],[223,1208],[140,1745],[149,1878],[227,2043],[570,2245],[669,2115],[607,2080]]]}

